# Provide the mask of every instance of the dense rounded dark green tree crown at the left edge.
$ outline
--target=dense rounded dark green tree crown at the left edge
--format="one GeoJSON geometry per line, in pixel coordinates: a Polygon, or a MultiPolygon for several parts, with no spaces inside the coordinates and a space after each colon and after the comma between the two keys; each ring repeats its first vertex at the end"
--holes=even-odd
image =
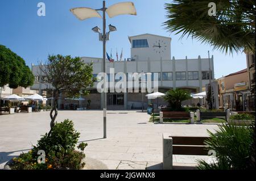
{"type": "Polygon", "coordinates": [[[9,48],[0,45],[0,86],[9,85],[10,88],[32,86],[34,75],[26,66],[23,58],[9,48]]]}

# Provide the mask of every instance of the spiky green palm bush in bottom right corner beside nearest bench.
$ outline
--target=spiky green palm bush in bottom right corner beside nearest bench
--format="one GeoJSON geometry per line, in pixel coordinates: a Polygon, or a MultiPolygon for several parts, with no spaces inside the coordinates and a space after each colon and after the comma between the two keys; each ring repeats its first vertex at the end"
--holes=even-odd
{"type": "Polygon", "coordinates": [[[208,131],[210,138],[205,141],[205,144],[209,146],[208,149],[216,152],[216,162],[207,163],[198,160],[198,169],[249,169],[253,129],[229,124],[222,124],[219,127],[220,130],[215,134],[208,131]]]}

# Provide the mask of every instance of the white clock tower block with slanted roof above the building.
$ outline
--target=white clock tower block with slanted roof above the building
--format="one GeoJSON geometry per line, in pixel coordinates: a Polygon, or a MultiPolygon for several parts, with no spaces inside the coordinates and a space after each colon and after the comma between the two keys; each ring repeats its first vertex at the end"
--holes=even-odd
{"type": "Polygon", "coordinates": [[[171,38],[166,36],[143,34],[129,37],[131,58],[143,60],[171,60],[171,38]]]}

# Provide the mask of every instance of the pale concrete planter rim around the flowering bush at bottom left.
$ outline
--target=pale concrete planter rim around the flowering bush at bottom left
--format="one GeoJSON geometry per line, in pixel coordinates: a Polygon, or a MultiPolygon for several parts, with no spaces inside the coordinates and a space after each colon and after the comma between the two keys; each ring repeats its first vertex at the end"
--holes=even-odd
{"type": "MultiPolygon", "coordinates": [[[[103,162],[98,161],[97,159],[85,157],[82,159],[82,162],[85,162],[85,166],[80,170],[108,170],[108,166],[106,166],[103,162]]],[[[10,159],[6,164],[3,170],[11,170],[11,163],[13,163],[13,159],[10,159]]]]}

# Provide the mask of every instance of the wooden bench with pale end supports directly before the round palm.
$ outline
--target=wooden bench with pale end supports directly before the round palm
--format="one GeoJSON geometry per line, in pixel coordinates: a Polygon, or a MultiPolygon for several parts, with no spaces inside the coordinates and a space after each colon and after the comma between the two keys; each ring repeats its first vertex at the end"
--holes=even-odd
{"type": "Polygon", "coordinates": [[[191,123],[194,122],[194,112],[183,111],[161,111],[159,113],[160,123],[163,123],[163,119],[189,119],[191,123]]]}

